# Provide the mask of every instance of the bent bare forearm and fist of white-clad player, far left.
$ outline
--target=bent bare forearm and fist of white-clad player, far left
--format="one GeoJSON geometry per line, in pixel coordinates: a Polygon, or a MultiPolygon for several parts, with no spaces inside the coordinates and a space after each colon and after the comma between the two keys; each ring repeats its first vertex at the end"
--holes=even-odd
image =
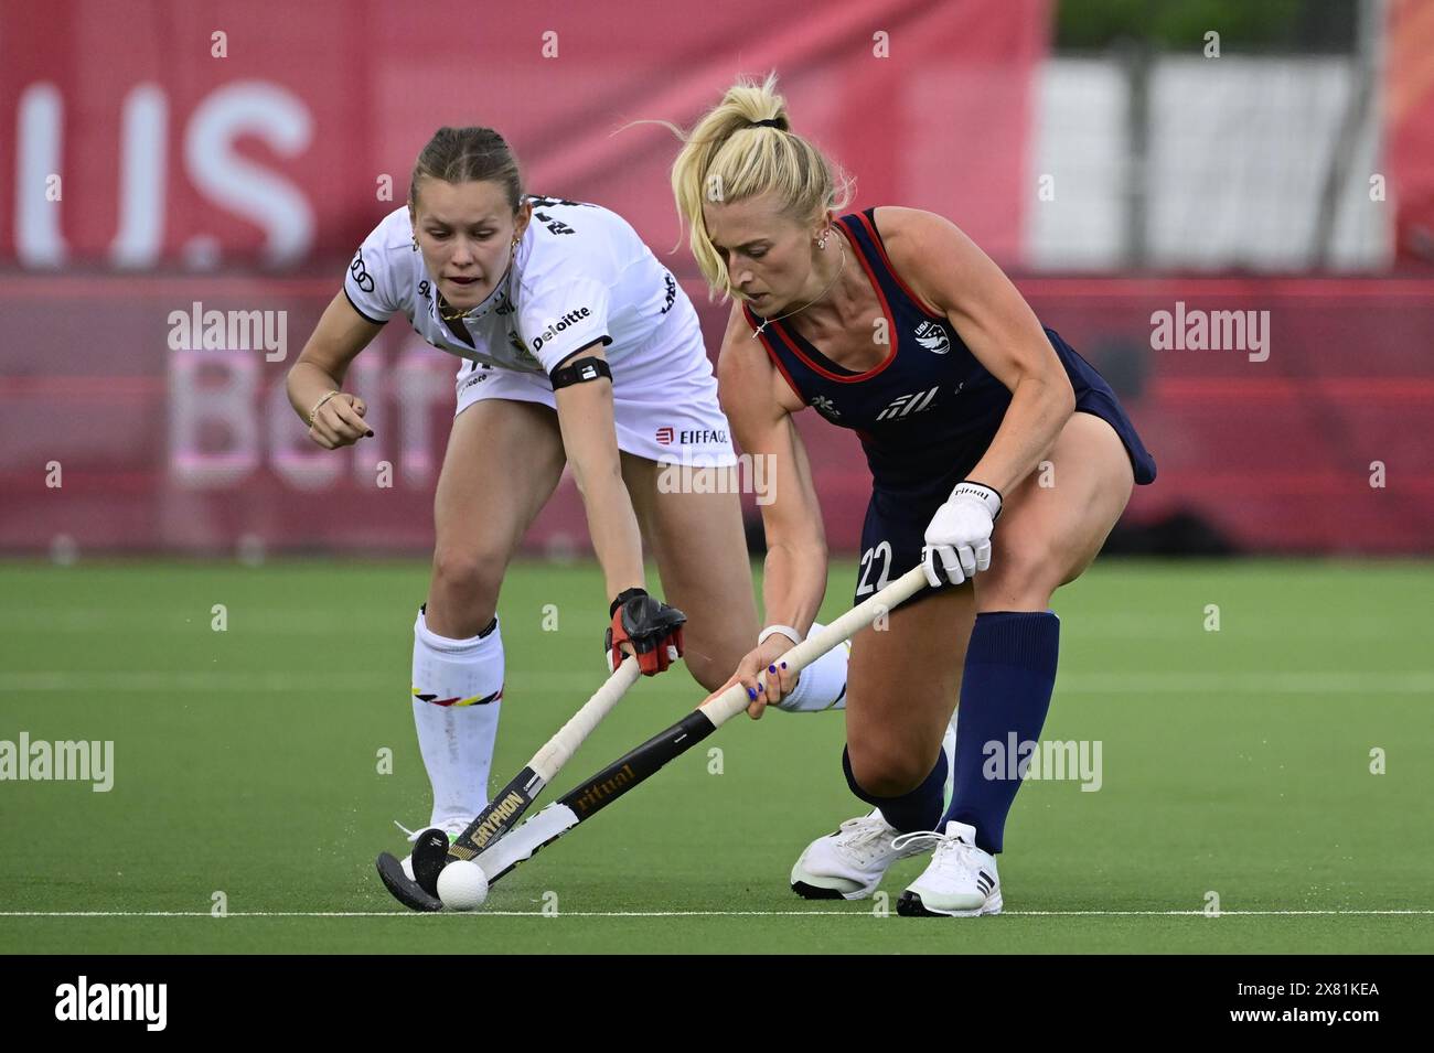
{"type": "MultiPolygon", "coordinates": [[[[308,414],[314,405],[330,391],[343,387],[348,364],[369,347],[380,330],[381,325],[374,325],[353,308],[343,289],[324,308],[285,381],[288,404],[305,424],[310,424],[308,414]]],[[[353,394],[336,395],[324,403],[308,437],[328,450],[356,443],[373,434],[363,420],[364,413],[361,398],[353,394]]]]}

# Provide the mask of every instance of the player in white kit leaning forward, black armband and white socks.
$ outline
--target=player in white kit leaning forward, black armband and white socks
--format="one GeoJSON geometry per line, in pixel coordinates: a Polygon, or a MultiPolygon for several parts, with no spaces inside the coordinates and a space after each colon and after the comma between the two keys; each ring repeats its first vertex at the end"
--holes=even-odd
{"type": "MultiPolygon", "coordinates": [[[[525,196],[500,135],[439,129],[407,206],[363,242],[288,374],[290,403],[320,446],[373,434],[343,381],[399,314],[462,360],[432,580],[413,629],[430,825],[453,835],[488,804],[505,672],[499,587],[565,463],[611,602],[609,662],[635,650],[654,675],[685,649],[711,689],[751,648],[757,616],[737,494],[658,486],[660,461],[736,458],[697,315],[621,216],[525,196]],[[644,539],[673,607],[644,592],[644,539]]],[[[827,662],[826,686],[792,708],[829,705],[845,675],[845,656],[827,662]]]]}

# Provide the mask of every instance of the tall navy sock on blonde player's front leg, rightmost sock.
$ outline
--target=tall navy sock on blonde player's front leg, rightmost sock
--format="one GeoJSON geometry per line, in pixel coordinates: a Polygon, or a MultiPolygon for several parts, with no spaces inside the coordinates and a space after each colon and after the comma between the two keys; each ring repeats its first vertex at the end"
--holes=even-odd
{"type": "MultiPolygon", "coordinates": [[[[967,645],[956,719],[956,779],[941,819],[977,828],[977,847],[1001,851],[1005,817],[1021,779],[1017,762],[1038,742],[1055,688],[1061,623],[1054,613],[977,615],[967,645]],[[992,745],[997,746],[992,751],[992,745]],[[1008,756],[1015,746],[1017,755],[1008,756]]],[[[1024,774],[1024,771],[1022,771],[1024,774]]]]}

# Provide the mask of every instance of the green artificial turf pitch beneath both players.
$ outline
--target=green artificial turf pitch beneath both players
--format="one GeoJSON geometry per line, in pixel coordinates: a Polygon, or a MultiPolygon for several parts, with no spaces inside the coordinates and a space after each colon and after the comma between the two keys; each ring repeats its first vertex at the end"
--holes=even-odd
{"type": "MultiPolygon", "coordinates": [[[[853,574],[833,567],[827,617],[853,574]]],[[[404,851],[393,819],[427,818],[409,702],[426,585],[423,562],[0,564],[0,739],[115,744],[109,792],[0,782],[0,951],[1434,950],[1431,564],[1098,562],[1057,596],[1043,738],[1098,741],[1100,789],[1022,788],[1007,913],[978,920],[896,915],[919,858],[888,875],[886,915],[790,893],[800,850],[863,811],[836,713],[734,721],[482,913],[404,911],[373,858],[404,851]]],[[[519,563],[499,610],[495,784],[601,683],[601,579],[519,563]]],[[[681,669],[640,682],[552,791],[701,696],[681,669]]]]}

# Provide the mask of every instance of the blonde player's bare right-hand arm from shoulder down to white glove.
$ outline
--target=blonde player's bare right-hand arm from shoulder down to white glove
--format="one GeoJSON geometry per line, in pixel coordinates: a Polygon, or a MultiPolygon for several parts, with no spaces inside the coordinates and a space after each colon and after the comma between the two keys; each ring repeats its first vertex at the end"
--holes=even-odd
{"type": "Polygon", "coordinates": [[[1035,468],[1076,411],[1076,394],[1030,305],[951,221],[908,208],[878,209],[892,264],[936,308],[977,360],[1011,393],[995,438],[969,479],[999,493],[1035,468]]]}

